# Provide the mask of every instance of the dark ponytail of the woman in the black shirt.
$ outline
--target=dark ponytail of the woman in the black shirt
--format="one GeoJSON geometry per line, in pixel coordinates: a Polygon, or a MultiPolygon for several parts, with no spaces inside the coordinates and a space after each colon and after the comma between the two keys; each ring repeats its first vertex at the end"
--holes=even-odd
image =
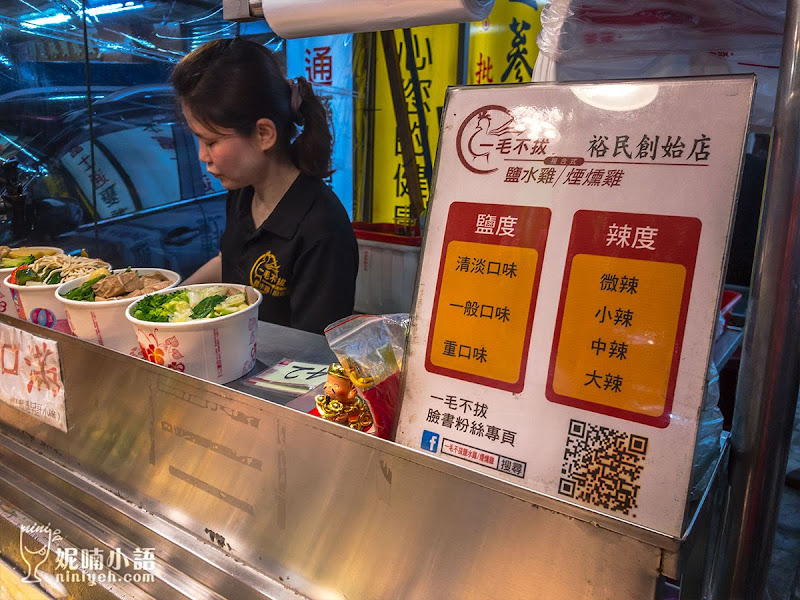
{"type": "Polygon", "coordinates": [[[328,113],[304,77],[293,80],[290,86],[292,110],[302,131],[291,143],[289,156],[303,173],[313,177],[327,177],[331,174],[333,152],[328,113]]]}

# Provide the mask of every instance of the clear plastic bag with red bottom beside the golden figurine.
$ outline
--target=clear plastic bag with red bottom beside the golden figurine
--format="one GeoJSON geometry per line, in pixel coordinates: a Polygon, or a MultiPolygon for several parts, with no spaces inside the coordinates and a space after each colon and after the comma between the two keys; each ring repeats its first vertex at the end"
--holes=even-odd
{"type": "Polygon", "coordinates": [[[392,431],[410,324],[406,313],[357,315],[325,329],[328,345],[369,405],[375,434],[384,439],[392,431]]]}

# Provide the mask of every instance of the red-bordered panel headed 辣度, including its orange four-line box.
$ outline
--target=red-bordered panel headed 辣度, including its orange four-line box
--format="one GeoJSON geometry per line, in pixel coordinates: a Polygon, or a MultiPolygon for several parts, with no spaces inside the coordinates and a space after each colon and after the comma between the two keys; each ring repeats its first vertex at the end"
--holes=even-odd
{"type": "Polygon", "coordinates": [[[550,401],[669,425],[700,229],[689,217],[575,214],[550,401]]]}

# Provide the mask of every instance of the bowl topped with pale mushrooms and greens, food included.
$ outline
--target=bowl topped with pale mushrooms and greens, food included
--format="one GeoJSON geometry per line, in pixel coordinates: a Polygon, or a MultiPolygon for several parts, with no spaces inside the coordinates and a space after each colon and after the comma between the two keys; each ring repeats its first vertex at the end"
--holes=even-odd
{"type": "Polygon", "coordinates": [[[97,258],[53,254],[17,267],[3,283],[11,290],[20,319],[71,334],[64,305],[56,298],[56,288],[97,269],[110,267],[97,258]]]}

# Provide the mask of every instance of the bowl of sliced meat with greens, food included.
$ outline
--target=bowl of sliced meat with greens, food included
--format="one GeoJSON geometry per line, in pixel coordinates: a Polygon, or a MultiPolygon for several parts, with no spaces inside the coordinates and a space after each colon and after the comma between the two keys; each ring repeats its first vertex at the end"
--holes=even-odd
{"type": "Polygon", "coordinates": [[[98,269],[59,285],[56,298],[64,304],[75,336],[138,354],[136,333],[125,319],[125,309],[142,296],[175,287],[180,280],[180,275],[167,269],[98,269]]]}

